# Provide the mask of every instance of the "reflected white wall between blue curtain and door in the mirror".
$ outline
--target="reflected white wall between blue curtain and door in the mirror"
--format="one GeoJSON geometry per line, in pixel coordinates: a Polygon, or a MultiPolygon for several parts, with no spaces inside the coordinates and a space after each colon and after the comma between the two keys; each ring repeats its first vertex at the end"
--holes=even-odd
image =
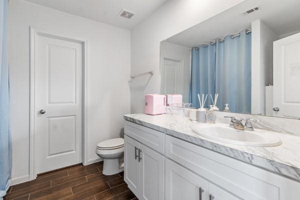
{"type": "Polygon", "coordinates": [[[273,83],[273,41],[279,36],[260,19],[251,29],[251,113],[264,114],[265,86],[273,83]]]}

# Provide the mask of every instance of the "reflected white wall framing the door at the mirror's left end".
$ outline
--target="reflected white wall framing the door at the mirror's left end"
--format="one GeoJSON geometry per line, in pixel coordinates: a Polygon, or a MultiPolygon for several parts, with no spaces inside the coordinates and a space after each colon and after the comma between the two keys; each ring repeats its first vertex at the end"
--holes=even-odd
{"type": "MultiPolygon", "coordinates": [[[[181,74],[183,78],[182,102],[186,103],[188,103],[189,100],[190,51],[191,48],[185,46],[180,46],[167,41],[160,42],[160,69],[163,65],[164,58],[179,60],[183,63],[181,74]]],[[[162,91],[161,88],[160,91],[162,91]]]]}

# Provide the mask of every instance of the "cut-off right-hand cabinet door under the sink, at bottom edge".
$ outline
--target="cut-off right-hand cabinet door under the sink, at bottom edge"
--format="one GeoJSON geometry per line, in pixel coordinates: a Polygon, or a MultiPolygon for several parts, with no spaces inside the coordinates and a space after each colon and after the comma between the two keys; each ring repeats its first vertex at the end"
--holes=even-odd
{"type": "Polygon", "coordinates": [[[233,194],[223,190],[222,188],[212,184],[209,182],[208,186],[209,190],[209,200],[241,200],[242,198],[238,198],[233,194]]]}

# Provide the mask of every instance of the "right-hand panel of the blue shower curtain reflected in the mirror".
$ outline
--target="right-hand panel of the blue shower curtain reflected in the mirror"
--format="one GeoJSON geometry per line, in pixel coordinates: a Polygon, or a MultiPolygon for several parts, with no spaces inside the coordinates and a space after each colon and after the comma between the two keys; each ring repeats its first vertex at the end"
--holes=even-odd
{"type": "Polygon", "coordinates": [[[251,112],[251,33],[240,32],[216,42],[215,92],[219,93],[217,107],[225,103],[232,112],[251,112]]]}

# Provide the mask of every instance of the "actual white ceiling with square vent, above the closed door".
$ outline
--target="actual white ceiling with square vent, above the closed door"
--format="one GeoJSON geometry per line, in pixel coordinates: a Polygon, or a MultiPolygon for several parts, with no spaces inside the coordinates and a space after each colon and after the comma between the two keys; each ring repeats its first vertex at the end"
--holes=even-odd
{"type": "Polygon", "coordinates": [[[63,12],[131,29],[166,0],[26,0],[63,12]],[[131,19],[119,17],[121,9],[136,13],[131,19]]]}

